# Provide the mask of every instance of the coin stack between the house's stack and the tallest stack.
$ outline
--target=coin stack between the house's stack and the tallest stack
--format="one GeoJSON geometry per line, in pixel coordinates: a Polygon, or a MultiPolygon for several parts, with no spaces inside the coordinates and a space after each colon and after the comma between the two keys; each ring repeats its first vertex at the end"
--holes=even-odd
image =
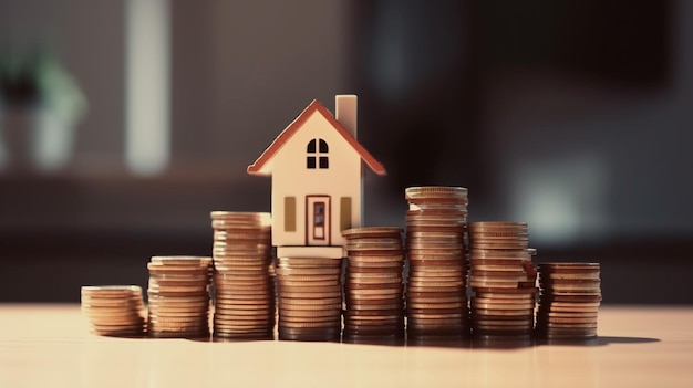
{"type": "Polygon", "coordinates": [[[402,229],[354,228],[346,239],[344,336],[404,335],[402,229]]]}

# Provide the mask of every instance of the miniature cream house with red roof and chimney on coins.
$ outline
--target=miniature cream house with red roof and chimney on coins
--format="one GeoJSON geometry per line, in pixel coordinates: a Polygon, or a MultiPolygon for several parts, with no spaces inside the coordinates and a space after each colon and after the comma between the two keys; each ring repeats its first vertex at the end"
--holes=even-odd
{"type": "Polygon", "coordinates": [[[362,161],[383,166],[356,141],[356,96],[338,95],[335,116],[313,101],[250,166],[272,177],[272,245],[285,258],[342,258],[341,231],[361,227],[362,161]]]}

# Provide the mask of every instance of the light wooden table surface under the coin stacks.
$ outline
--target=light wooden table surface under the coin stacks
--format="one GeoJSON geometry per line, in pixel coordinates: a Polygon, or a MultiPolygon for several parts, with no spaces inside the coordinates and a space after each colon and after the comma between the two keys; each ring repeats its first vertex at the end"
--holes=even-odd
{"type": "Polygon", "coordinates": [[[0,387],[693,387],[693,306],[603,306],[587,344],[110,338],[79,305],[0,305],[0,387]]]}

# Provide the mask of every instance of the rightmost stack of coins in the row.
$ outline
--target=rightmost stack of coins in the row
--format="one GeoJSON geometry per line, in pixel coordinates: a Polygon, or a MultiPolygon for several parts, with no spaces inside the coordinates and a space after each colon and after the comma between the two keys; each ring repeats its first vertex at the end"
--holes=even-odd
{"type": "Polygon", "coordinates": [[[541,263],[539,287],[538,337],[597,337],[597,317],[601,303],[599,263],[541,263]]]}

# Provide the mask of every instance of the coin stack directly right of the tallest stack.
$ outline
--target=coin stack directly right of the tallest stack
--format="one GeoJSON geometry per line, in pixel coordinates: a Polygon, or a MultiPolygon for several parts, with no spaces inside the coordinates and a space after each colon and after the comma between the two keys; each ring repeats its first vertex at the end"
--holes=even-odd
{"type": "Polygon", "coordinates": [[[477,338],[529,338],[537,289],[524,222],[469,223],[472,331],[477,338]]]}

